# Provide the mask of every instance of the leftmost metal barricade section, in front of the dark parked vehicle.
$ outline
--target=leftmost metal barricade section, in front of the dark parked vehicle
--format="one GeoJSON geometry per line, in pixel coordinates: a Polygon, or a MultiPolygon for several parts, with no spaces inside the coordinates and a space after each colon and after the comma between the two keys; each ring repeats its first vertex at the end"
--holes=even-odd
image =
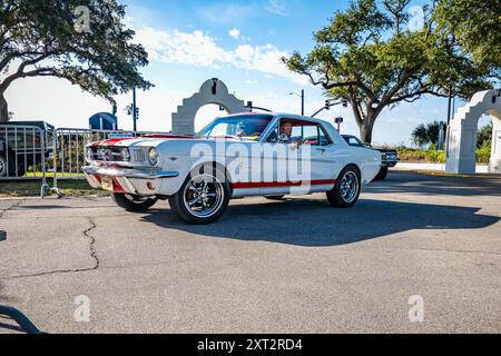
{"type": "Polygon", "coordinates": [[[41,180],[47,189],[47,159],[50,147],[46,132],[33,126],[0,126],[0,180],[41,180]]]}

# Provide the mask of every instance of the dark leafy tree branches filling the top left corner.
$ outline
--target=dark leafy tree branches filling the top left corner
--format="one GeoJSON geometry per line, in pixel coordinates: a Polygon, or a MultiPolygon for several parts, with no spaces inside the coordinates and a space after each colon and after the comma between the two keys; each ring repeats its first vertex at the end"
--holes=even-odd
{"type": "Polygon", "coordinates": [[[125,7],[115,0],[2,1],[0,95],[14,80],[38,76],[67,79],[110,101],[132,87],[148,89],[138,71],[148,56],[131,42],[135,33],[124,19],[125,7]],[[90,32],[78,27],[85,17],[79,7],[89,10],[90,32]]]}

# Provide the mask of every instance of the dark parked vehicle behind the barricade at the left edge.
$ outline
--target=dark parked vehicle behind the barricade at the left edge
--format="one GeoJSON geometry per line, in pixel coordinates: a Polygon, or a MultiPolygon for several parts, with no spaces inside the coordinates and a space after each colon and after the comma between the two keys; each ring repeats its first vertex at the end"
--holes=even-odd
{"type": "Polygon", "coordinates": [[[53,131],[43,121],[0,122],[0,177],[22,177],[29,166],[48,158],[51,150],[46,142],[53,131]]]}

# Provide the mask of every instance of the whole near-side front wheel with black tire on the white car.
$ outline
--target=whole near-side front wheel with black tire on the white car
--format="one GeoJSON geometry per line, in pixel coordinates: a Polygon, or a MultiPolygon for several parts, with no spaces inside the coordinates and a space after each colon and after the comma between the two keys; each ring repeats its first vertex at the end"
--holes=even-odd
{"type": "Polygon", "coordinates": [[[169,198],[170,208],[188,224],[202,225],[216,221],[225,212],[230,198],[230,188],[225,175],[189,175],[178,192],[169,198]],[[225,177],[220,181],[217,177],[225,177]]]}

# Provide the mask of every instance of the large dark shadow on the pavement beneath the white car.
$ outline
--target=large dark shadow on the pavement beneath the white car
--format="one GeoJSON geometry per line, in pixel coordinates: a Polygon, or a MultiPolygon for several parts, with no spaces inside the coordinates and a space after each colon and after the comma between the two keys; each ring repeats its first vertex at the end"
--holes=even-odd
{"type": "Polygon", "coordinates": [[[143,219],[163,228],[237,240],[265,240],[296,246],[338,246],[412,229],[480,229],[499,217],[480,208],[362,199],[352,209],[334,209],[317,199],[239,205],[206,226],[180,222],[170,210],[153,210],[143,219]]]}

